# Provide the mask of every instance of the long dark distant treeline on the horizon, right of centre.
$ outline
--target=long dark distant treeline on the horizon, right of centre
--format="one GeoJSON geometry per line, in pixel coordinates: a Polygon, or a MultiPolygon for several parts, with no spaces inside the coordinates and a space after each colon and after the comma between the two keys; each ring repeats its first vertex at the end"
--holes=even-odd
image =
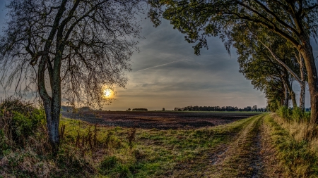
{"type": "Polygon", "coordinates": [[[257,106],[247,106],[246,108],[237,108],[232,106],[187,106],[184,108],[175,108],[175,111],[259,111],[266,112],[266,108],[257,108],[257,106]]]}

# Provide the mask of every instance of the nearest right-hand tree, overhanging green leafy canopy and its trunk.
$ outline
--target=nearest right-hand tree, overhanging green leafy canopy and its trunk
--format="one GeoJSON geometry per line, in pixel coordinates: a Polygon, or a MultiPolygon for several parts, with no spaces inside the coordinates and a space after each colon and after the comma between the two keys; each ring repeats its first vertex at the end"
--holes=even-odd
{"type": "MultiPolygon", "coordinates": [[[[310,41],[317,40],[317,1],[150,0],[149,4],[152,8],[148,15],[153,23],[160,25],[160,18],[170,20],[175,29],[185,34],[187,42],[195,44],[196,54],[208,47],[211,36],[223,39],[229,50],[235,42],[232,30],[242,25],[257,27],[269,39],[285,39],[304,61],[312,109],[310,125],[318,123],[318,75],[310,41]]],[[[241,30],[244,33],[248,28],[241,30]]]]}

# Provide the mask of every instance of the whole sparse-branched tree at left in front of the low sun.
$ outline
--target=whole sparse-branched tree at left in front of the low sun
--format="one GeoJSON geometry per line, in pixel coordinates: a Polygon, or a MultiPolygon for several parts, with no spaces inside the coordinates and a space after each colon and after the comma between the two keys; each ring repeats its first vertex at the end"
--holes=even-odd
{"type": "Polygon", "coordinates": [[[139,37],[139,0],[12,0],[0,41],[1,83],[35,89],[49,142],[59,146],[61,99],[102,106],[105,87],[124,87],[139,37]]]}

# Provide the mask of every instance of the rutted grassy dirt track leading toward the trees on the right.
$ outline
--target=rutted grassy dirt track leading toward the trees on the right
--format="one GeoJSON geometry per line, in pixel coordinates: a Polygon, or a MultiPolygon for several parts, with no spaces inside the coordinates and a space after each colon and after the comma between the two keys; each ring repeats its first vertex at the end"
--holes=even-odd
{"type": "MultiPolygon", "coordinates": [[[[211,153],[213,177],[282,177],[271,148],[269,128],[264,125],[264,115],[242,124],[240,132],[228,145],[211,153]]],[[[210,176],[207,176],[210,177],[210,176]]]]}

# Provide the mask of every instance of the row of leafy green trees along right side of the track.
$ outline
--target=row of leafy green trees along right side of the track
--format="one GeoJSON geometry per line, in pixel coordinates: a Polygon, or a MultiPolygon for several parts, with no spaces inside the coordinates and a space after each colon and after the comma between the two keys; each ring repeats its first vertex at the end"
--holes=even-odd
{"type": "Polygon", "coordinates": [[[170,20],[194,45],[208,47],[208,37],[223,39],[237,49],[240,72],[264,91],[272,110],[298,107],[293,81],[301,87],[299,107],[305,110],[305,86],[310,91],[308,137],[318,124],[318,75],[312,41],[318,34],[318,1],[314,0],[150,0],[148,15],[155,25],[170,20]]]}

